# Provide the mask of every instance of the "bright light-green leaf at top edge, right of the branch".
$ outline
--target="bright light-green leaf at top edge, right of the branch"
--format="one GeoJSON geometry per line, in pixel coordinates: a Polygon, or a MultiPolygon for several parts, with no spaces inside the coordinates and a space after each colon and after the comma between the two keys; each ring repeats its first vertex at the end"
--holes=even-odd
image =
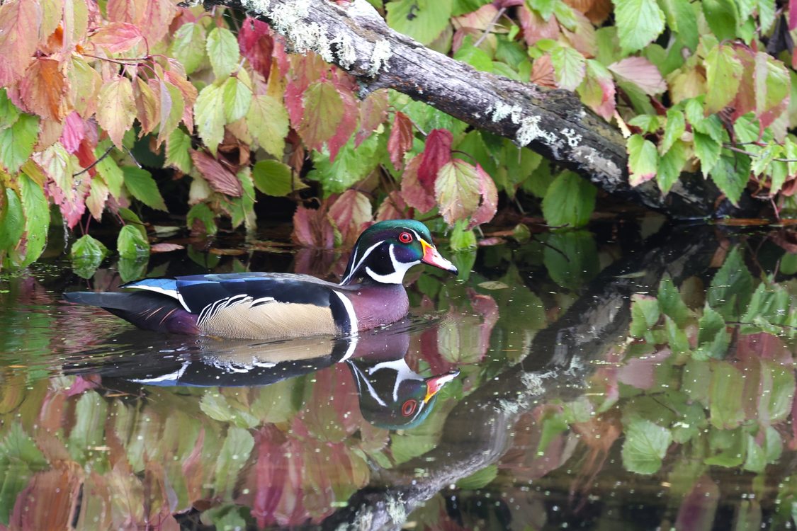
{"type": "Polygon", "coordinates": [[[649,45],[664,31],[664,13],[656,0],[614,0],[617,37],[625,55],[649,45]]]}

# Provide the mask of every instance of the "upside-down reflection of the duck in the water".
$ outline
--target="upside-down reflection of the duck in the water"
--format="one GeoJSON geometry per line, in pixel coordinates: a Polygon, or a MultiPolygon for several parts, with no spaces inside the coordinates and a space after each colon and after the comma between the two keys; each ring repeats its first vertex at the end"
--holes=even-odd
{"type": "MultiPolygon", "coordinates": [[[[141,345],[137,330],[114,338],[124,353],[94,349],[69,358],[67,374],[99,375],[103,386],[126,390],[133,385],[163,387],[256,387],[315,373],[336,363],[348,365],[356,383],[363,418],[379,428],[406,429],[421,424],[434,408],[440,389],[459,371],[423,377],[410,368],[409,321],[351,338],[316,336],[281,342],[220,342],[215,338],[158,335],[155,350],[141,345]]],[[[129,390],[129,389],[128,389],[129,390]]]]}

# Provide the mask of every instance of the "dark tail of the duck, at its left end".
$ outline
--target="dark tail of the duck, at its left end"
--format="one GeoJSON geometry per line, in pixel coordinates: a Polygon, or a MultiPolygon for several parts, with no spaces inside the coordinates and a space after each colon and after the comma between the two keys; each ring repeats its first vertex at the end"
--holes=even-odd
{"type": "Polygon", "coordinates": [[[137,293],[70,291],[63,296],[69,303],[97,306],[108,310],[144,330],[198,334],[197,316],[187,312],[179,301],[165,295],[149,291],[137,293]]]}

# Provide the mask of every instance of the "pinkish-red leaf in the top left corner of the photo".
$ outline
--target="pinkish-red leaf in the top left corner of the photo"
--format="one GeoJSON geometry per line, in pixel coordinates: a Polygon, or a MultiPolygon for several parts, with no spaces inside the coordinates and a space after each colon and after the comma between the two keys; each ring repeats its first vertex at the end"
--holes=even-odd
{"type": "Polygon", "coordinates": [[[0,86],[22,77],[36,52],[41,7],[36,0],[5,2],[0,6],[0,86]]]}

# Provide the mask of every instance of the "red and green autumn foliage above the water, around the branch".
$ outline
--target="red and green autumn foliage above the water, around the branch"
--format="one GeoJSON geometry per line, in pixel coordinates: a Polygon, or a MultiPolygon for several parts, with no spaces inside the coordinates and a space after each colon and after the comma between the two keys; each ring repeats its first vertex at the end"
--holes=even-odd
{"type": "MultiPolygon", "coordinates": [[[[371,6],[477,69],[575,91],[626,135],[634,184],[655,178],[666,193],[699,172],[731,201],[748,189],[776,214],[794,206],[791,5],[371,6]]],[[[579,226],[595,207],[591,184],[507,139],[397,92],[359,100],[323,53],[291,54],[240,12],[171,0],[10,0],[0,29],[5,267],[40,255],[50,205],[54,225],[84,235],[73,254],[89,261],[108,252],[88,236],[103,217],[129,227],[116,247],[135,257],[147,254],[152,225],[174,215],[195,233],[251,233],[256,213],[285,219],[296,208],[294,240],[320,247],[350,244],[374,220],[419,217],[453,228],[453,248],[465,248],[499,193],[514,213],[504,222],[540,209],[550,225],[579,226]]]]}

